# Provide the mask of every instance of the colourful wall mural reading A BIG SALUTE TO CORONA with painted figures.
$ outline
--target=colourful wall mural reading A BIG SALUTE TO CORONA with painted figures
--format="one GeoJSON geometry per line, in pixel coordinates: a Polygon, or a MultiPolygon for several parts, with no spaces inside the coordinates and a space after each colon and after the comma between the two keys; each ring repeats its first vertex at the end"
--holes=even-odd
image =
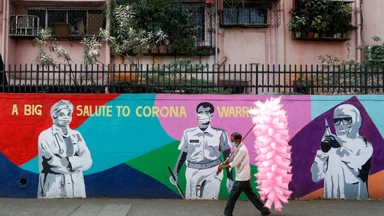
{"type": "MultiPolygon", "coordinates": [[[[1,197],[227,199],[233,173],[212,174],[218,159],[233,150],[227,136],[245,134],[253,126],[248,110],[273,96],[0,97],[1,197]],[[70,133],[55,136],[52,129],[60,125],[70,133]],[[73,175],[78,179],[62,187],[73,175]],[[42,187],[47,182],[57,187],[42,187]]],[[[383,96],[292,95],[281,96],[280,103],[292,145],[293,198],[384,199],[383,96]],[[330,187],[339,187],[338,193],[330,187]]],[[[251,163],[254,141],[253,133],[244,140],[251,163]]]]}

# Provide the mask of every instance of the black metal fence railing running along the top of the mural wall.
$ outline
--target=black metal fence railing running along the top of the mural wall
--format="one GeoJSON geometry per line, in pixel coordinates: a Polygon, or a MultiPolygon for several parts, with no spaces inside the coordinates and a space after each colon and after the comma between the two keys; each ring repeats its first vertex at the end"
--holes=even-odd
{"type": "Polygon", "coordinates": [[[383,94],[383,66],[8,66],[0,91],[15,93],[383,94]]]}

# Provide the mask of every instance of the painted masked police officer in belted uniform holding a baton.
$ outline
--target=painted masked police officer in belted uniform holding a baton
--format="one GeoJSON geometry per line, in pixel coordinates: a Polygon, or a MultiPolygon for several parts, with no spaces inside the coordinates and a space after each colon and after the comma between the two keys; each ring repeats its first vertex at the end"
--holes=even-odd
{"type": "MultiPolygon", "coordinates": [[[[185,199],[218,199],[223,173],[216,175],[221,163],[220,155],[229,157],[230,145],[227,131],[211,127],[215,108],[211,103],[199,103],[196,117],[199,125],[183,132],[178,149],[180,156],[173,174],[176,177],[185,163],[185,199]]],[[[232,171],[227,169],[227,188],[232,189],[232,171]]],[[[175,184],[172,178],[171,182],[175,184]]]]}

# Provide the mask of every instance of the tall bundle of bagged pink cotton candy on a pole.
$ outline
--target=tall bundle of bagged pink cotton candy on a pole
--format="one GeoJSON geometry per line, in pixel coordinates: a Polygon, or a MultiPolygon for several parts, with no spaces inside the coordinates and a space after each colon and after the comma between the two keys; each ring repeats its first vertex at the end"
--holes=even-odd
{"type": "Polygon", "coordinates": [[[292,194],[288,190],[292,166],[286,112],[282,110],[280,97],[267,99],[264,103],[257,101],[255,106],[257,108],[249,110],[249,113],[254,116],[252,122],[256,124],[253,132],[256,137],[257,189],[267,208],[274,206],[276,211],[281,211],[281,203],[288,203],[292,194]]]}

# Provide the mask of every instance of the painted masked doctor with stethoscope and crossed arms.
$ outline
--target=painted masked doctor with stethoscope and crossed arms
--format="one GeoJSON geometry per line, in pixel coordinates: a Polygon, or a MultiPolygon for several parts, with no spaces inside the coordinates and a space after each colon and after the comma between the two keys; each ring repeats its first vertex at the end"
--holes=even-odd
{"type": "Polygon", "coordinates": [[[85,198],[83,171],[92,159],[83,136],[72,130],[73,104],[59,101],[50,109],[52,127],[38,136],[38,198],[85,198]]]}

